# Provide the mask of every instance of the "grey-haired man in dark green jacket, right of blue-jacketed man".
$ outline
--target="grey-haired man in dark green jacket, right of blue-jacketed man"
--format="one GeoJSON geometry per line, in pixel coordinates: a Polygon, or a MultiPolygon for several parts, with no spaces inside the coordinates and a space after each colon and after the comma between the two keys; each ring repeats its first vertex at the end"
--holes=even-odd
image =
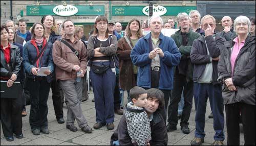
{"type": "MultiPolygon", "coordinates": [[[[170,96],[170,105],[168,108],[167,132],[177,130],[178,124],[178,104],[181,100],[183,90],[184,107],[181,115],[180,126],[183,133],[190,132],[188,128],[188,119],[190,116],[193,102],[193,66],[190,61],[190,51],[193,41],[200,37],[199,33],[193,32],[189,27],[189,17],[187,13],[177,15],[180,30],[171,37],[174,39],[181,53],[180,64],[175,69],[174,89],[170,96]]],[[[167,105],[166,105],[167,106],[167,105]]]]}

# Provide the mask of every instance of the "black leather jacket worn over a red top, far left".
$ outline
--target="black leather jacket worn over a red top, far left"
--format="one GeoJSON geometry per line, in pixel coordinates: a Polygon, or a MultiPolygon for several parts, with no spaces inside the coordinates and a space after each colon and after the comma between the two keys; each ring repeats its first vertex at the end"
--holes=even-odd
{"type": "Polygon", "coordinates": [[[1,77],[8,77],[9,79],[12,77],[12,74],[18,76],[21,65],[22,58],[20,57],[20,50],[18,46],[10,44],[11,46],[11,59],[9,62],[9,68],[7,67],[7,63],[5,60],[5,54],[1,49],[1,77]],[[10,68],[11,66],[11,68],[10,68]]]}

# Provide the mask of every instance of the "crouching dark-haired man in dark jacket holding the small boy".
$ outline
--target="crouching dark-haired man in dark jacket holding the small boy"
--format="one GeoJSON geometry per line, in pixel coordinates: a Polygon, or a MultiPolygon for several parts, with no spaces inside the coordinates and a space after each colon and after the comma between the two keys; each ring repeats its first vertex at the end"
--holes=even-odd
{"type": "MultiPolygon", "coordinates": [[[[147,108],[145,108],[148,116],[153,116],[151,121],[151,137],[150,145],[167,145],[168,136],[165,123],[160,110],[164,110],[164,94],[159,89],[147,90],[147,108]]],[[[111,136],[111,145],[136,145],[133,143],[127,131],[127,123],[125,115],[119,121],[119,125],[111,136]]]]}

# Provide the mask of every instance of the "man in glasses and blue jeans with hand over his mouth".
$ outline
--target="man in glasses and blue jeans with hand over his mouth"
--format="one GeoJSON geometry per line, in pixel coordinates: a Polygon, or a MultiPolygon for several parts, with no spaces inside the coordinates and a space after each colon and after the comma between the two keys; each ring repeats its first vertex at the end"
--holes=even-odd
{"type": "Polygon", "coordinates": [[[218,62],[220,50],[224,50],[225,39],[214,34],[216,20],[211,15],[206,15],[201,20],[201,27],[205,36],[201,36],[193,42],[190,58],[194,64],[194,97],[196,112],[195,138],[191,145],[200,145],[204,142],[205,111],[207,98],[210,101],[211,111],[214,115],[213,145],[223,145],[224,114],[221,85],[218,83],[218,62]]]}

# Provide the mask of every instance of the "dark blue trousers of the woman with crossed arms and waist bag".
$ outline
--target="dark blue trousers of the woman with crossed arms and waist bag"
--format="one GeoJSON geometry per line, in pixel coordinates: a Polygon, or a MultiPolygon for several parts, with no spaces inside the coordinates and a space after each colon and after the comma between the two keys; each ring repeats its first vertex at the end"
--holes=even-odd
{"type": "MultiPolygon", "coordinates": [[[[110,65],[110,62],[93,62],[93,64],[110,65]]],[[[90,79],[93,85],[96,122],[114,122],[114,89],[116,84],[115,73],[111,68],[103,74],[95,74],[90,71],[90,79]]]]}

